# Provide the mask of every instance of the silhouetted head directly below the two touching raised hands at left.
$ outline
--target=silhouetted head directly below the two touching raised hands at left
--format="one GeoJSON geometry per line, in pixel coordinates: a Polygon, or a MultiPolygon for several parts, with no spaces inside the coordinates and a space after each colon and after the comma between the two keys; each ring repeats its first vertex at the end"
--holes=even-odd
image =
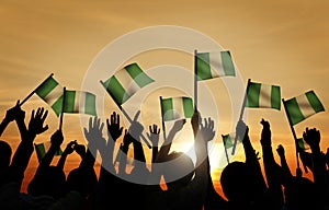
{"type": "Polygon", "coordinates": [[[94,194],[98,187],[98,177],[93,170],[77,167],[67,176],[68,190],[76,190],[84,198],[94,194]]]}

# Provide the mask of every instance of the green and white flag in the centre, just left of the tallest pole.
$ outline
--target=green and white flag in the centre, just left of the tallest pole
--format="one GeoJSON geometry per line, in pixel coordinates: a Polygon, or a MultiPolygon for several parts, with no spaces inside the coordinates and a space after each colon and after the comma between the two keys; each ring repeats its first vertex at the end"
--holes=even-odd
{"type": "Polygon", "coordinates": [[[161,98],[161,115],[163,121],[191,118],[194,114],[191,97],[161,98]]]}

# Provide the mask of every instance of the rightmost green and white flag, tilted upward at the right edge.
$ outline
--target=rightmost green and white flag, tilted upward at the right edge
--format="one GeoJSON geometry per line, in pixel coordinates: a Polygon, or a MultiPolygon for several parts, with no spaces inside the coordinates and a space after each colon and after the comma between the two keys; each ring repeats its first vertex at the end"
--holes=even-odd
{"type": "Polygon", "coordinates": [[[324,105],[314,91],[308,91],[284,103],[287,117],[293,126],[325,110],[324,105]]]}

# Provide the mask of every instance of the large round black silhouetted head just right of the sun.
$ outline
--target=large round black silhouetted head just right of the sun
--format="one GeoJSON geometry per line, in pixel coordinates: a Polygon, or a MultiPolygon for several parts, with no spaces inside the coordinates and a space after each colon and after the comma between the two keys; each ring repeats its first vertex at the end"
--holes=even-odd
{"type": "Polygon", "coordinates": [[[249,202],[256,191],[251,171],[243,162],[231,162],[222,172],[220,185],[226,198],[232,202],[249,202]]]}

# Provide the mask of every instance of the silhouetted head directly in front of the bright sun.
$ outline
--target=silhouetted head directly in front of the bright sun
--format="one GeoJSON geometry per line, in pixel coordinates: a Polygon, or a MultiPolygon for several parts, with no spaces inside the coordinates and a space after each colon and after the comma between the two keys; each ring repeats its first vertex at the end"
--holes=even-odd
{"type": "Polygon", "coordinates": [[[191,182],[194,175],[194,163],[183,152],[171,152],[167,156],[166,167],[162,170],[168,189],[175,189],[186,186],[191,182]]]}

